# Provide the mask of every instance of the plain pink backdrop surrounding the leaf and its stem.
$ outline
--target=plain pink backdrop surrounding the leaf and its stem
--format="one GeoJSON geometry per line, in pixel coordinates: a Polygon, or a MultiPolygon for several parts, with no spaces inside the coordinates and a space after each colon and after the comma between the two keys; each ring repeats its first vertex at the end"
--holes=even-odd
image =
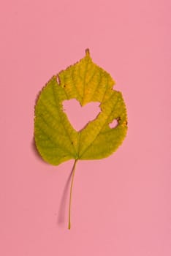
{"type": "Polygon", "coordinates": [[[171,255],[171,2],[3,2],[0,255],[171,255]],[[34,102],[86,48],[123,92],[129,132],[111,157],[78,162],[67,230],[73,161],[35,153],[34,102]]]}

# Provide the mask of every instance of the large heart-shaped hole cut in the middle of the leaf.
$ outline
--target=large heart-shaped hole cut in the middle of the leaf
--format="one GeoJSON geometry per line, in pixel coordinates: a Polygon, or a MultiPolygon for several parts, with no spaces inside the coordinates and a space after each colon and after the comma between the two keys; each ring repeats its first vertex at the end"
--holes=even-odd
{"type": "Polygon", "coordinates": [[[99,102],[89,102],[84,107],[81,107],[77,99],[69,99],[64,100],[62,104],[72,127],[77,132],[83,129],[89,121],[94,120],[101,111],[99,102]]]}

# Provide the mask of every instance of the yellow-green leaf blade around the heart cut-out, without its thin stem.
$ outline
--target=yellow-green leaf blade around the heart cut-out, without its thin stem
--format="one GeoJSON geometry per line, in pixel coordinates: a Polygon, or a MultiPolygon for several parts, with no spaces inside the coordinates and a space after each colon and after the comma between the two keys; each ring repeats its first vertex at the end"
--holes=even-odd
{"type": "Polygon", "coordinates": [[[93,63],[89,50],[50,79],[39,95],[34,119],[36,146],[46,162],[59,165],[69,159],[102,159],[121,145],[127,130],[126,107],[113,85],[110,74],[93,63]],[[66,99],[77,99],[81,106],[101,102],[101,113],[77,132],[62,109],[66,99]],[[118,125],[111,129],[114,119],[118,125]]]}

